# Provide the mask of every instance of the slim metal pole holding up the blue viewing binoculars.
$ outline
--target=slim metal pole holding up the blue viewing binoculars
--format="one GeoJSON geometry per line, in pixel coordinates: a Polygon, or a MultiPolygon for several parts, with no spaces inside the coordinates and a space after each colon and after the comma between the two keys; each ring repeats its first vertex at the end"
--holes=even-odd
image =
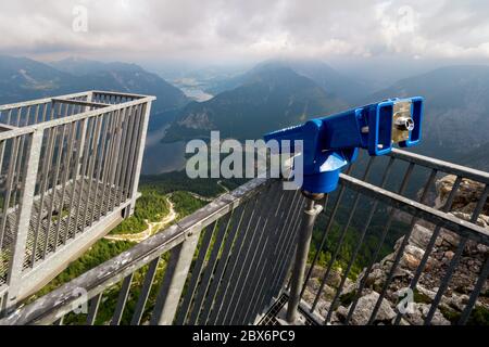
{"type": "Polygon", "coordinates": [[[302,192],[306,197],[305,208],[302,215],[301,228],[299,230],[298,244],[296,249],[296,260],[292,268],[290,280],[290,296],[287,307],[287,322],[293,324],[297,319],[297,312],[301,300],[301,290],[304,282],[305,266],[308,262],[309,248],[311,246],[314,222],[317,215],[323,210],[323,206],[316,204],[324,197],[324,194],[309,194],[302,192]]]}

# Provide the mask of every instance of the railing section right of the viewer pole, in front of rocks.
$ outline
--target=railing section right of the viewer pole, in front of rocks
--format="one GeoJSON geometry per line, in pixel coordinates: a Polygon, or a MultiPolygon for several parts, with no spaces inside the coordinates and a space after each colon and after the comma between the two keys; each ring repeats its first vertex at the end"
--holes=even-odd
{"type": "MultiPolygon", "coordinates": [[[[428,273],[429,265],[429,267],[438,267],[439,271],[432,279],[436,283],[432,285],[432,291],[428,294],[423,293],[423,300],[417,299],[418,303],[423,303],[425,308],[421,312],[421,320],[418,319],[417,323],[431,324],[434,317],[440,314],[440,304],[446,298],[444,295],[449,295],[448,292],[452,290],[451,281],[469,243],[473,244],[472,248],[479,245],[489,246],[489,230],[480,227],[480,220],[478,220],[482,210],[486,210],[486,214],[489,211],[487,202],[489,174],[393,150],[390,157],[371,157],[367,164],[360,166],[356,172],[352,172],[352,168],[350,168],[348,175],[341,175],[340,182],[341,188],[338,192],[333,194],[334,196],[329,196],[334,203],[327,209],[327,223],[322,230],[319,245],[312,255],[313,260],[302,284],[302,297],[304,297],[305,291],[313,294],[308,300],[302,301],[303,312],[310,318],[314,318],[318,324],[330,324],[335,323],[333,318],[338,316],[338,307],[346,305],[341,313],[342,319],[337,319],[336,323],[350,324],[356,314],[361,297],[376,292],[378,296],[374,296],[375,304],[363,307],[363,312],[364,314],[367,312],[368,319],[359,321],[363,324],[378,323],[379,310],[381,307],[385,308],[384,303],[389,298],[389,303],[394,304],[391,308],[396,314],[391,321],[383,323],[406,324],[404,318],[418,312],[402,310],[402,307],[397,306],[396,299],[401,298],[400,290],[403,291],[403,294],[406,293],[404,290],[412,291],[412,293],[421,290],[421,280],[428,273]],[[447,175],[453,175],[453,184],[446,193],[444,198],[438,202],[440,206],[435,208],[437,205],[435,183],[437,179],[447,175]],[[480,189],[478,192],[472,192],[471,204],[465,210],[466,218],[461,219],[451,211],[462,194],[461,187],[468,184],[467,180],[471,180],[472,184],[479,184],[480,189]],[[340,210],[343,211],[343,216],[340,216],[340,210]],[[373,226],[375,220],[377,226],[373,226]],[[350,228],[353,224],[355,228],[353,232],[358,236],[356,244],[349,249],[348,256],[342,258],[341,249],[346,245],[348,235],[352,232],[350,228]],[[335,227],[338,233],[331,235],[335,227]],[[410,269],[401,269],[401,262],[405,257],[410,257],[408,248],[413,231],[417,231],[418,228],[424,228],[423,230],[429,236],[422,244],[416,244],[416,247],[422,250],[422,256],[419,259],[415,259],[410,269]],[[450,253],[449,261],[435,260],[434,264],[429,264],[434,260],[431,257],[442,234],[452,235],[456,240],[453,244],[454,253],[450,253]],[[372,243],[372,240],[368,240],[371,235],[376,236],[374,245],[367,245],[368,241],[372,243]],[[391,239],[390,244],[387,242],[389,237],[391,239]],[[389,252],[394,249],[388,260],[384,258],[386,253],[389,253],[385,252],[386,245],[389,252]],[[313,272],[317,270],[321,252],[327,252],[330,258],[324,267],[319,267],[321,274],[315,275],[319,283],[314,291],[308,283],[312,279],[313,272]],[[342,296],[346,283],[355,277],[352,271],[353,267],[359,257],[361,255],[365,257],[365,254],[367,259],[361,262],[362,272],[356,277],[353,290],[350,287],[349,294],[342,296]],[[338,267],[338,262],[342,266],[338,267]],[[378,283],[372,283],[376,279],[374,272],[379,269],[384,275],[378,283]],[[339,281],[329,286],[329,297],[324,300],[322,297],[325,295],[327,283],[335,274],[339,275],[339,281]],[[326,305],[319,309],[318,304],[322,300],[326,305]],[[341,303],[342,300],[346,303],[341,303]]],[[[482,288],[487,290],[488,287],[488,254],[482,249],[478,255],[482,258],[480,267],[471,269],[473,279],[471,279],[471,283],[464,284],[468,297],[466,301],[464,299],[459,304],[460,312],[452,314],[450,323],[466,324],[482,288]]],[[[465,257],[472,258],[474,253],[465,255],[465,257]]],[[[487,293],[482,294],[487,296],[487,293]]],[[[413,300],[412,304],[416,304],[416,298],[413,300]]],[[[484,303],[486,310],[488,309],[486,299],[484,303]]],[[[443,304],[444,309],[447,309],[446,306],[443,304]]],[[[489,312],[489,310],[487,311],[489,312]]]]}

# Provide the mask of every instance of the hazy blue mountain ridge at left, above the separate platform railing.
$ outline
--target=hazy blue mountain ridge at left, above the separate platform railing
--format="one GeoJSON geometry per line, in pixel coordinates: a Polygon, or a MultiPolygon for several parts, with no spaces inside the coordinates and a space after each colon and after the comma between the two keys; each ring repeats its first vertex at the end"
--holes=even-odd
{"type": "Polygon", "coordinates": [[[155,95],[153,114],[188,103],[178,88],[135,64],[67,59],[48,65],[26,57],[0,56],[0,103],[93,89],[155,95]]]}

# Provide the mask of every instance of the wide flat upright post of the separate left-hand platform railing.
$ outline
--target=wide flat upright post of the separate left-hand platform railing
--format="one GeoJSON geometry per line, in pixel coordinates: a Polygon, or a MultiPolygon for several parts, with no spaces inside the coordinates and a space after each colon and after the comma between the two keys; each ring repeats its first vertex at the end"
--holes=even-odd
{"type": "Polygon", "coordinates": [[[34,190],[36,188],[37,170],[39,167],[39,157],[42,145],[42,131],[36,130],[32,134],[30,147],[26,157],[25,175],[22,190],[22,198],[20,200],[18,224],[17,230],[13,233],[13,249],[11,266],[9,268],[7,295],[7,309],[10,310],[16,304],[17,293],[22,286],[22,270],[25,259],[25,248],[27,234],[29,231],[30,214],[33,210],[34,190]]]}

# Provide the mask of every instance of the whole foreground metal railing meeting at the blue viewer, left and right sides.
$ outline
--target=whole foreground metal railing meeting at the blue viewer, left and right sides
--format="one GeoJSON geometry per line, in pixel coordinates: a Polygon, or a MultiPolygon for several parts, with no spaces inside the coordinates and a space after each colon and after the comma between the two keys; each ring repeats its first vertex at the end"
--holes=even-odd
{"type": "MultiPolygon", "coordinates": [[[[300,312],[308,322],[317,324],[359,323],[359,312],[363,324],[405,323],[409,313],[401,312],[394,301],[389,307],[388,321],[385,317],[379,321],[377,316],[386,316],[385,303],[398,296],[393,284],[396,291],[400,285],[419,291],[427,268],[435,267],[432,295],[423,293],[426,309],[417,321],[431,324],[434,318],[439,320],[439,309],[452,291],[451,280],[457,277],[461,261],[474,256],[466,254],[467,247],[489,245],[489,231],[477,224],[480,213],[487,213],[489,174],[397,150],[390,157],[369,158],[364,164],[341,175],[339,190],[324,202],[326,213],[318,219],[323,218],[323,222],[316,223],[300,312]],[[441,207],[435,208],[435,182],[447,174],[455,176],[454,182],[441,207]],[[482,187],[471,197],[474,204],[469,220],[450,214],[466,179],[482,187]],[[414,267],[400,274],[411,236],[419,226],[429,236],[419,245],[423,255],[414,267]],[[430,264],[439,237],[447,233],[459,240],[453,254],[448,261],[430,264]],[[347,243],[350,235],[355,236],[353,243],[347,243]],[[343,252],[347,245],[351,248],[343,252]],[[383,262],[388,254],[388,261],[383,262]],[[371,281],[379,269],[383,280],[371,281]],[[331,283],[334,274],[337,281],[331,283]],[[318,281],[316,286],[310,285],[313,278],[318,281]],[[353,291],[346,287],[348,283],[354,284],[353,291]],[[321,307],[326,290],[329,301],[321,307]],[[347,290],[348,300],[343,295],[347,290]],[[373,292],[375,300],[365,306],[364,296],[373,292]],[[306,296],[308,293],[313,295],[306,296]],[[342,319],[335,322],[342,306],[342,319]]],[[[284,191],[280,181],[250,181],[20,307],[0,324],[277,322],[263,317],[269,308],[276,314],[279,309],[274,304],[279,300],[284,305],[284,295],[288,295],[304,207],[301,193],[284,191]]],[[[472,282],[466,283],[468,294],[460,303],[460,314],[452,319],[454,324],[466,324],[474,308],[487,305],[481,297],[487,294],[481,292],[487,287],[489,261],[487,253],[484,256],[480,266],[473,269],[472,282]]]]}

